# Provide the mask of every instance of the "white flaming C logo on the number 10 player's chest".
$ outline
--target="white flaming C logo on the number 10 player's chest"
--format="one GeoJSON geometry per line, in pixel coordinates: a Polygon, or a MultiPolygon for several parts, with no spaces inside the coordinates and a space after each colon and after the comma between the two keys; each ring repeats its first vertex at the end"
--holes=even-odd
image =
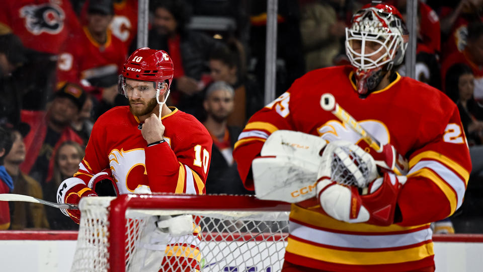
{"type": "Polygon", "coordinates": [[[140,185],[148,185],[144,149],[124,151],[114,149],[109,154],[109,164],[119,192],[131,193],[140,185]]]}

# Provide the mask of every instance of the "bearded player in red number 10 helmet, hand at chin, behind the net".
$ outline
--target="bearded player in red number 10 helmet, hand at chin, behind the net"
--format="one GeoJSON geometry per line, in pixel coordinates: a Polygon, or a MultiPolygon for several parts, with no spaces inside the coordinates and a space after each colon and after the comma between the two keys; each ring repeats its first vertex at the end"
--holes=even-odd
{"type": "MultiPolygon", "coordinates": [[[[141,185],[151,192],[205,193],[211,136],[195,117],[165,104],[172,80],[168,53],[147,47],[132,53],[119,76],[119,92],[129,106],[115,107],[96,121],[79,171],[59,186],[58,202],[133,193],[141,185]]],[[[79,222],[78,210],[66,212],[79,222]]],[[[166,252],[193,267],[201,260],[195,245],[168,245],[166,252]],[[181,249],[181,257],[170,246],[181,249]]]]}

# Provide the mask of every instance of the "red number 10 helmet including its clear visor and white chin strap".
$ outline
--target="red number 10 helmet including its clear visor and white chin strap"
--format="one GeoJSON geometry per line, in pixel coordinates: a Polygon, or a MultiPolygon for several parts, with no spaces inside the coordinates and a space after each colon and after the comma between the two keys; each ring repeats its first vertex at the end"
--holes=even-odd
{"type": "MultiPolygon", "coordinates": [[[[118,91],[126,98],[156,98],[159,106],[162,106],[170,95],[170,86],[173,81],[173,61],[167,52],[163,50],[139,48],[134,51],[123,65],[122,74],[119,75],[118,91]],[[152,82],[150,86],[133,88],[126,84],[126,79],[152,82]],[[159,93],[165,81],[168,81],[168,92],[164,101],[159,101],[159,93]]],[[[159,107],[161,111],[161,107],[159,107]]]]}

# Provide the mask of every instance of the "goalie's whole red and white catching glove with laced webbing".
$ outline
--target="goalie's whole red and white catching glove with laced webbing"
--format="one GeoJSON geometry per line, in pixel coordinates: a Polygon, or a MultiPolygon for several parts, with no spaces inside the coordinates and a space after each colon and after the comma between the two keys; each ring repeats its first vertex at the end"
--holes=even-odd
{"type": "Polygon", "coordinates": [[[360,147],[345,141],[330,143],[322,155],[317,177],[321,208],[340,221],[391,225],[406,177],[390,172],[377,176],[374,159],[360,147]]]}

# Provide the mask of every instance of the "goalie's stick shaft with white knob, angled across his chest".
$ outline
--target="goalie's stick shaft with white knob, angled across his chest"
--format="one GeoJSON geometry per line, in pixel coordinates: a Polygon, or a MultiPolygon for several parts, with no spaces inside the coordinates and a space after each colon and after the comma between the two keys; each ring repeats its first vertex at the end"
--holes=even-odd
{"type": "MultiPolygon", "coordinates": [[[[334,114],[337,118],[339,118],[344,123],[348,124],[352,130],[359,133],[362,136],[362,140],[364,140],[371,148],[373,148],[377,152],[382,151],[382,145],[374,138],[369,132],[364,130],[359,122],[354,119],[345,109],[343,109],[337,102],[336,98],[330,94],[325,93],[320,97],[320,107],[322,107],[326,111],[330,111],[334,114]]],[[[396,154],[396,162],[394,164],[395,169],[392,169],[398,175],[406,175],[409,169],[409,163],[406,158],[404,158],[400,154],[396,154]]]]}

